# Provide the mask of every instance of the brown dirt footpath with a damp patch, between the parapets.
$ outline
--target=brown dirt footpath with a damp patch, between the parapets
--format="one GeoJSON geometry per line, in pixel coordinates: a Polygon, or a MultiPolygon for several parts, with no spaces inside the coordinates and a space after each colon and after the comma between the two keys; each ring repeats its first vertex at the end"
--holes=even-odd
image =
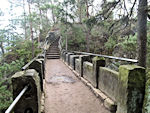
{"type": "Polygon", "coordinates": [[[47,60],[45,113],[109,113],[61,60],[47,60]]]}

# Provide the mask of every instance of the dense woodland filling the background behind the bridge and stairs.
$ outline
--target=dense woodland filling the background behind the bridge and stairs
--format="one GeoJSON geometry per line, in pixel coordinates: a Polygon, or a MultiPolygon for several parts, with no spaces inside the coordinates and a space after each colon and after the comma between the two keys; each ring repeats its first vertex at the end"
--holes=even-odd
{"type": "MultiPolygon", "coordinates": [[[[148,3],[147,0],[9,0],[9,25],[0,27],[0,112],[12,101],[10,77],[42,52],[49,31],[59,32],[63,48],[69,51],[139,59],[139,65],[149,68],[148,3]],[[16,16],[14,8],[20,8],[22,14],[16,16]]],[[[5,16],[1,9],[0,16],[5,16]]]]}

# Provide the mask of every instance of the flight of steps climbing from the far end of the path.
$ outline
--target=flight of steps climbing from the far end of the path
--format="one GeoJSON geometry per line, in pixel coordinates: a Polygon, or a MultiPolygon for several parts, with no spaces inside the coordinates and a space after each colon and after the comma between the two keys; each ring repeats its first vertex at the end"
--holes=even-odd
{"type": "Polygon", "coordinates": [[[59,59],[60,58],[60,53],[59,53],[59,48],[58,48],[58,41],[59,39],[56,39],[49,49],[46,52],[46,58],[47,59],[59,59]]]}

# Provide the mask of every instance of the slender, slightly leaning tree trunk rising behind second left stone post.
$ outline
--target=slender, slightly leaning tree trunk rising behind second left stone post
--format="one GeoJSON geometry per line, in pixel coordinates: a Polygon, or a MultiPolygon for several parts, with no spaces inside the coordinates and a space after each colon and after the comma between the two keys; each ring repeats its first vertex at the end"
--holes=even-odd
{"type": "Polygon", "coordinates": [[[31,20],[31,7],[29,2],[28,2],[28,7],[29,7],[29,15],[30,15],[30,33],[31,33],[31,40],[32,40],[32,58],[34,58],[34,40],[33,40],[32,20],[31,20]]]}

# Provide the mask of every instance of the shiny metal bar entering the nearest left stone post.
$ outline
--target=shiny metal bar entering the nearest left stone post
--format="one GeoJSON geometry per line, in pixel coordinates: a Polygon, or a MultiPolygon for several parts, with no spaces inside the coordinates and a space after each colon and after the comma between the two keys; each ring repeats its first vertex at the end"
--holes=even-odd
{"type": "Polygon", "coordinates": [[[24,93],[27,91],[28,85],[23,88],[23,90],[19,93],[19,95],[15,98],[13,103],[9,106],[9,108],[5,111],[5,113],[10,113],[13,108],[16,106],[18,101],[21,99],[21,97],[24,95],[24,93]]]}

